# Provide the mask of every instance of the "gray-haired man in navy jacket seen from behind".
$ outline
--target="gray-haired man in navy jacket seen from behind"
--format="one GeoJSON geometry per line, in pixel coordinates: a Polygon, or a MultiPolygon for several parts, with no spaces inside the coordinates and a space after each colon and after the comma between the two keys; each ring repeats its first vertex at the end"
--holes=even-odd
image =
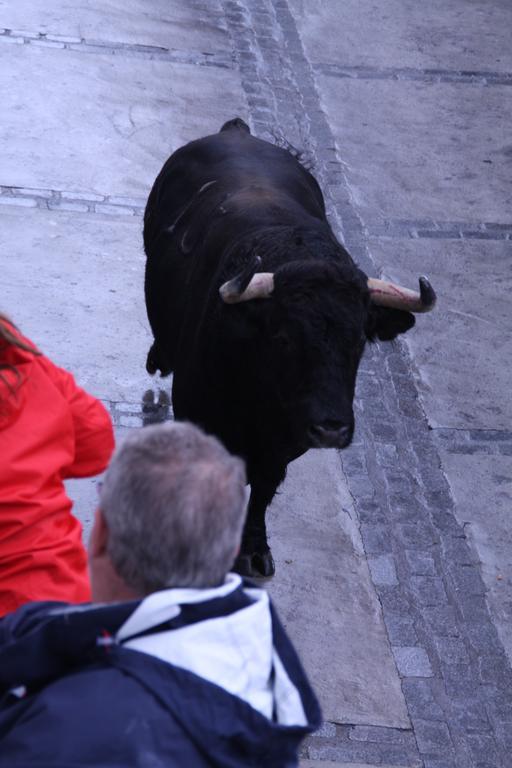
{"type": "Polygon", "coordinates": [[[297,765],[320,712],[267,593],[229,573],[245,470],[189,424],[116,451],[94,603],[0,621],[0,766],[297,765]]]}

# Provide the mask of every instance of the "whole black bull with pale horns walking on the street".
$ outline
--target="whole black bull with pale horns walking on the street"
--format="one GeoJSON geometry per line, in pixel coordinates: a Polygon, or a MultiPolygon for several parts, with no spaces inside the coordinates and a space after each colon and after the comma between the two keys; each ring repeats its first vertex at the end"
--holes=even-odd
{"type": "Polygon", "coordinates": [[[313,176],[238,118],[167,160],[144,247],[147,369],[174,372],[176,418],[245,459],[251,496],[235,567],[269,576],[265,511],[287,464],[350,443],[365,343],[409,330],[407,310],[431,308],[433,291],[425,280],[421,297],[369,281],[336,240],[313,176]]]}

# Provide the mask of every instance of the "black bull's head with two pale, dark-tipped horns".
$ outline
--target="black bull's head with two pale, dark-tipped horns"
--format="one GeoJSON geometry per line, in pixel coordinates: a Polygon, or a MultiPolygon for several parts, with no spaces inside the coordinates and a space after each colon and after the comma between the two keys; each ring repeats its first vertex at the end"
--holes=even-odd
{"type": "Polygon", "coordinates": [[[433,308],[434,290],[425,277],[419,292],[367,278],[351,260],[260,268],[254,256],[220,296],[254,307],[244,320],[258,326],[258,376],[274,379],[304,449],[344,448],[354,431],[352,402],[366,341],[391,340],[412,328],[413,313],[433,308]]]}

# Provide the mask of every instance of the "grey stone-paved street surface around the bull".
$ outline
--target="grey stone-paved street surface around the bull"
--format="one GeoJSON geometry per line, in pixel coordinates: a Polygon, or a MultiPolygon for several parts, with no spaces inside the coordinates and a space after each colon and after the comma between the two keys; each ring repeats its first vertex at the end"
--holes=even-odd
{"type": "MultiPolygon", "coordinates": [[[[299,459],[269,512],[326,718],[304,767],[512,765],[511,35],[506,0],[0,0],[1,309],[119,439],[172,418],[147,194],[235,115],[300,150],[367,274],[438,293],[368,348],[350,448],[299,459]]],[[[69,483],[86,533],[95,484],[69,483]]]]}

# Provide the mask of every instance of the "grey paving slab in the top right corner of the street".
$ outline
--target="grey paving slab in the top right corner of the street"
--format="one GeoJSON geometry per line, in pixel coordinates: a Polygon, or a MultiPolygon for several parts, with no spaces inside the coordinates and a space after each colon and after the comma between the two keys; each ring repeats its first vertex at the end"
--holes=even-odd
{"type": "Polygon", "coordinates": [[[468,6],[464,0],[434,0],[419,6],[414,0],[388,0],[381,6],[371,0],[291,0],[291,6],[314,63],[512,70],[507,35],[512,10],[506,2],[468,6]]]}

